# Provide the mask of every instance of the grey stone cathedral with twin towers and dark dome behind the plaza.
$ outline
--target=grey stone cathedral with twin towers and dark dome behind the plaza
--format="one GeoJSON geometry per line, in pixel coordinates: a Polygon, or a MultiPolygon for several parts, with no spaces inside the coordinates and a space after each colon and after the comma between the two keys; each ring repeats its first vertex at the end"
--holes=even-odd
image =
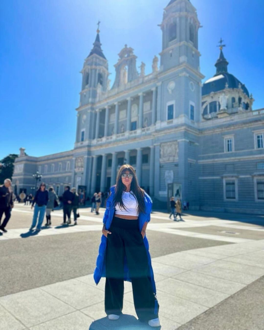
{"type": "Polygon", "coordinates": [[[111,88],[98,27],[81,70],[74,148],[42,157],[20,148],[16,193],[34,193],[38,171],[59,195],[71,185],[90,196],[114,185],[127,163],[154,209],[178,196],[191,210],[264,213],[264,109],[252,110],[252,94],[229,73],[222,40],[216,73],[202,83],[201,25],[190,0],[171,0],[159,26],[152,72],[143,62],[138,72],[125,45],[111,88]]]}

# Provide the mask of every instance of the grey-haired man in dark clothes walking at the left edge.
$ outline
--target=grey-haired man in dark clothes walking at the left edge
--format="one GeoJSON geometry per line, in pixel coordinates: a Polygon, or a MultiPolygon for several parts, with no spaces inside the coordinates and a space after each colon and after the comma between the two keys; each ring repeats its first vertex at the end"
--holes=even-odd
{"type": "Polygon", "coordinates": [[[5,179],[4,184],[0,186],[0,223],[3,214],[5,214],[5,218],[3,223],[0,225],[0,229],[6,233],[7,230],[5,226],[7,225],[10,217],[11,217],[11,210],[14,207],[13,203],[13,192],[11,189],[12,181],[10,179],[5,179]]]}

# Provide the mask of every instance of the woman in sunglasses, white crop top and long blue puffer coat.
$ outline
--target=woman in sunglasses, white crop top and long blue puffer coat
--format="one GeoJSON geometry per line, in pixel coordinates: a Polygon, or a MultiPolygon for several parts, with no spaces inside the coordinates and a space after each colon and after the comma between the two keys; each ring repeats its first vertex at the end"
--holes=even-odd
{"type": "Polygon", "coordinates": [[[123,308],[124,280],[132,282],[135,311],[140,321],[160,326],[149,244],[145,236],[152,200],[139,187],[131,165],[119,169],[110,188],[103,216],[103,236],[94,280],[105,280],[105,313],[117,320],[123,308]],[[126,258],[125,258],[126,256],[126,258]]]}

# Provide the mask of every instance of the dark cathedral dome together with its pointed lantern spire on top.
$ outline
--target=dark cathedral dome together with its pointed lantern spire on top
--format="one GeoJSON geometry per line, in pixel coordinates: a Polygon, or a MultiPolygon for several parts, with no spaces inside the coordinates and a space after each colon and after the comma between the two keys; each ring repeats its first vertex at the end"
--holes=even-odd
{"type": "Polygon", "coordinates": [[[220,47],[220,55],[215,64],[216,74],[214,77],[208,79],[203,83],[202,87],[202,96],[208,95],[211,92],[218,92],[224,90],[226,86],[228,88],[241,88],[243,92],[249,96],[249,91],[244,84],[242,84],[236,77],[227,72],[228,62],[224,58],[222,47],[220,47]]]}

